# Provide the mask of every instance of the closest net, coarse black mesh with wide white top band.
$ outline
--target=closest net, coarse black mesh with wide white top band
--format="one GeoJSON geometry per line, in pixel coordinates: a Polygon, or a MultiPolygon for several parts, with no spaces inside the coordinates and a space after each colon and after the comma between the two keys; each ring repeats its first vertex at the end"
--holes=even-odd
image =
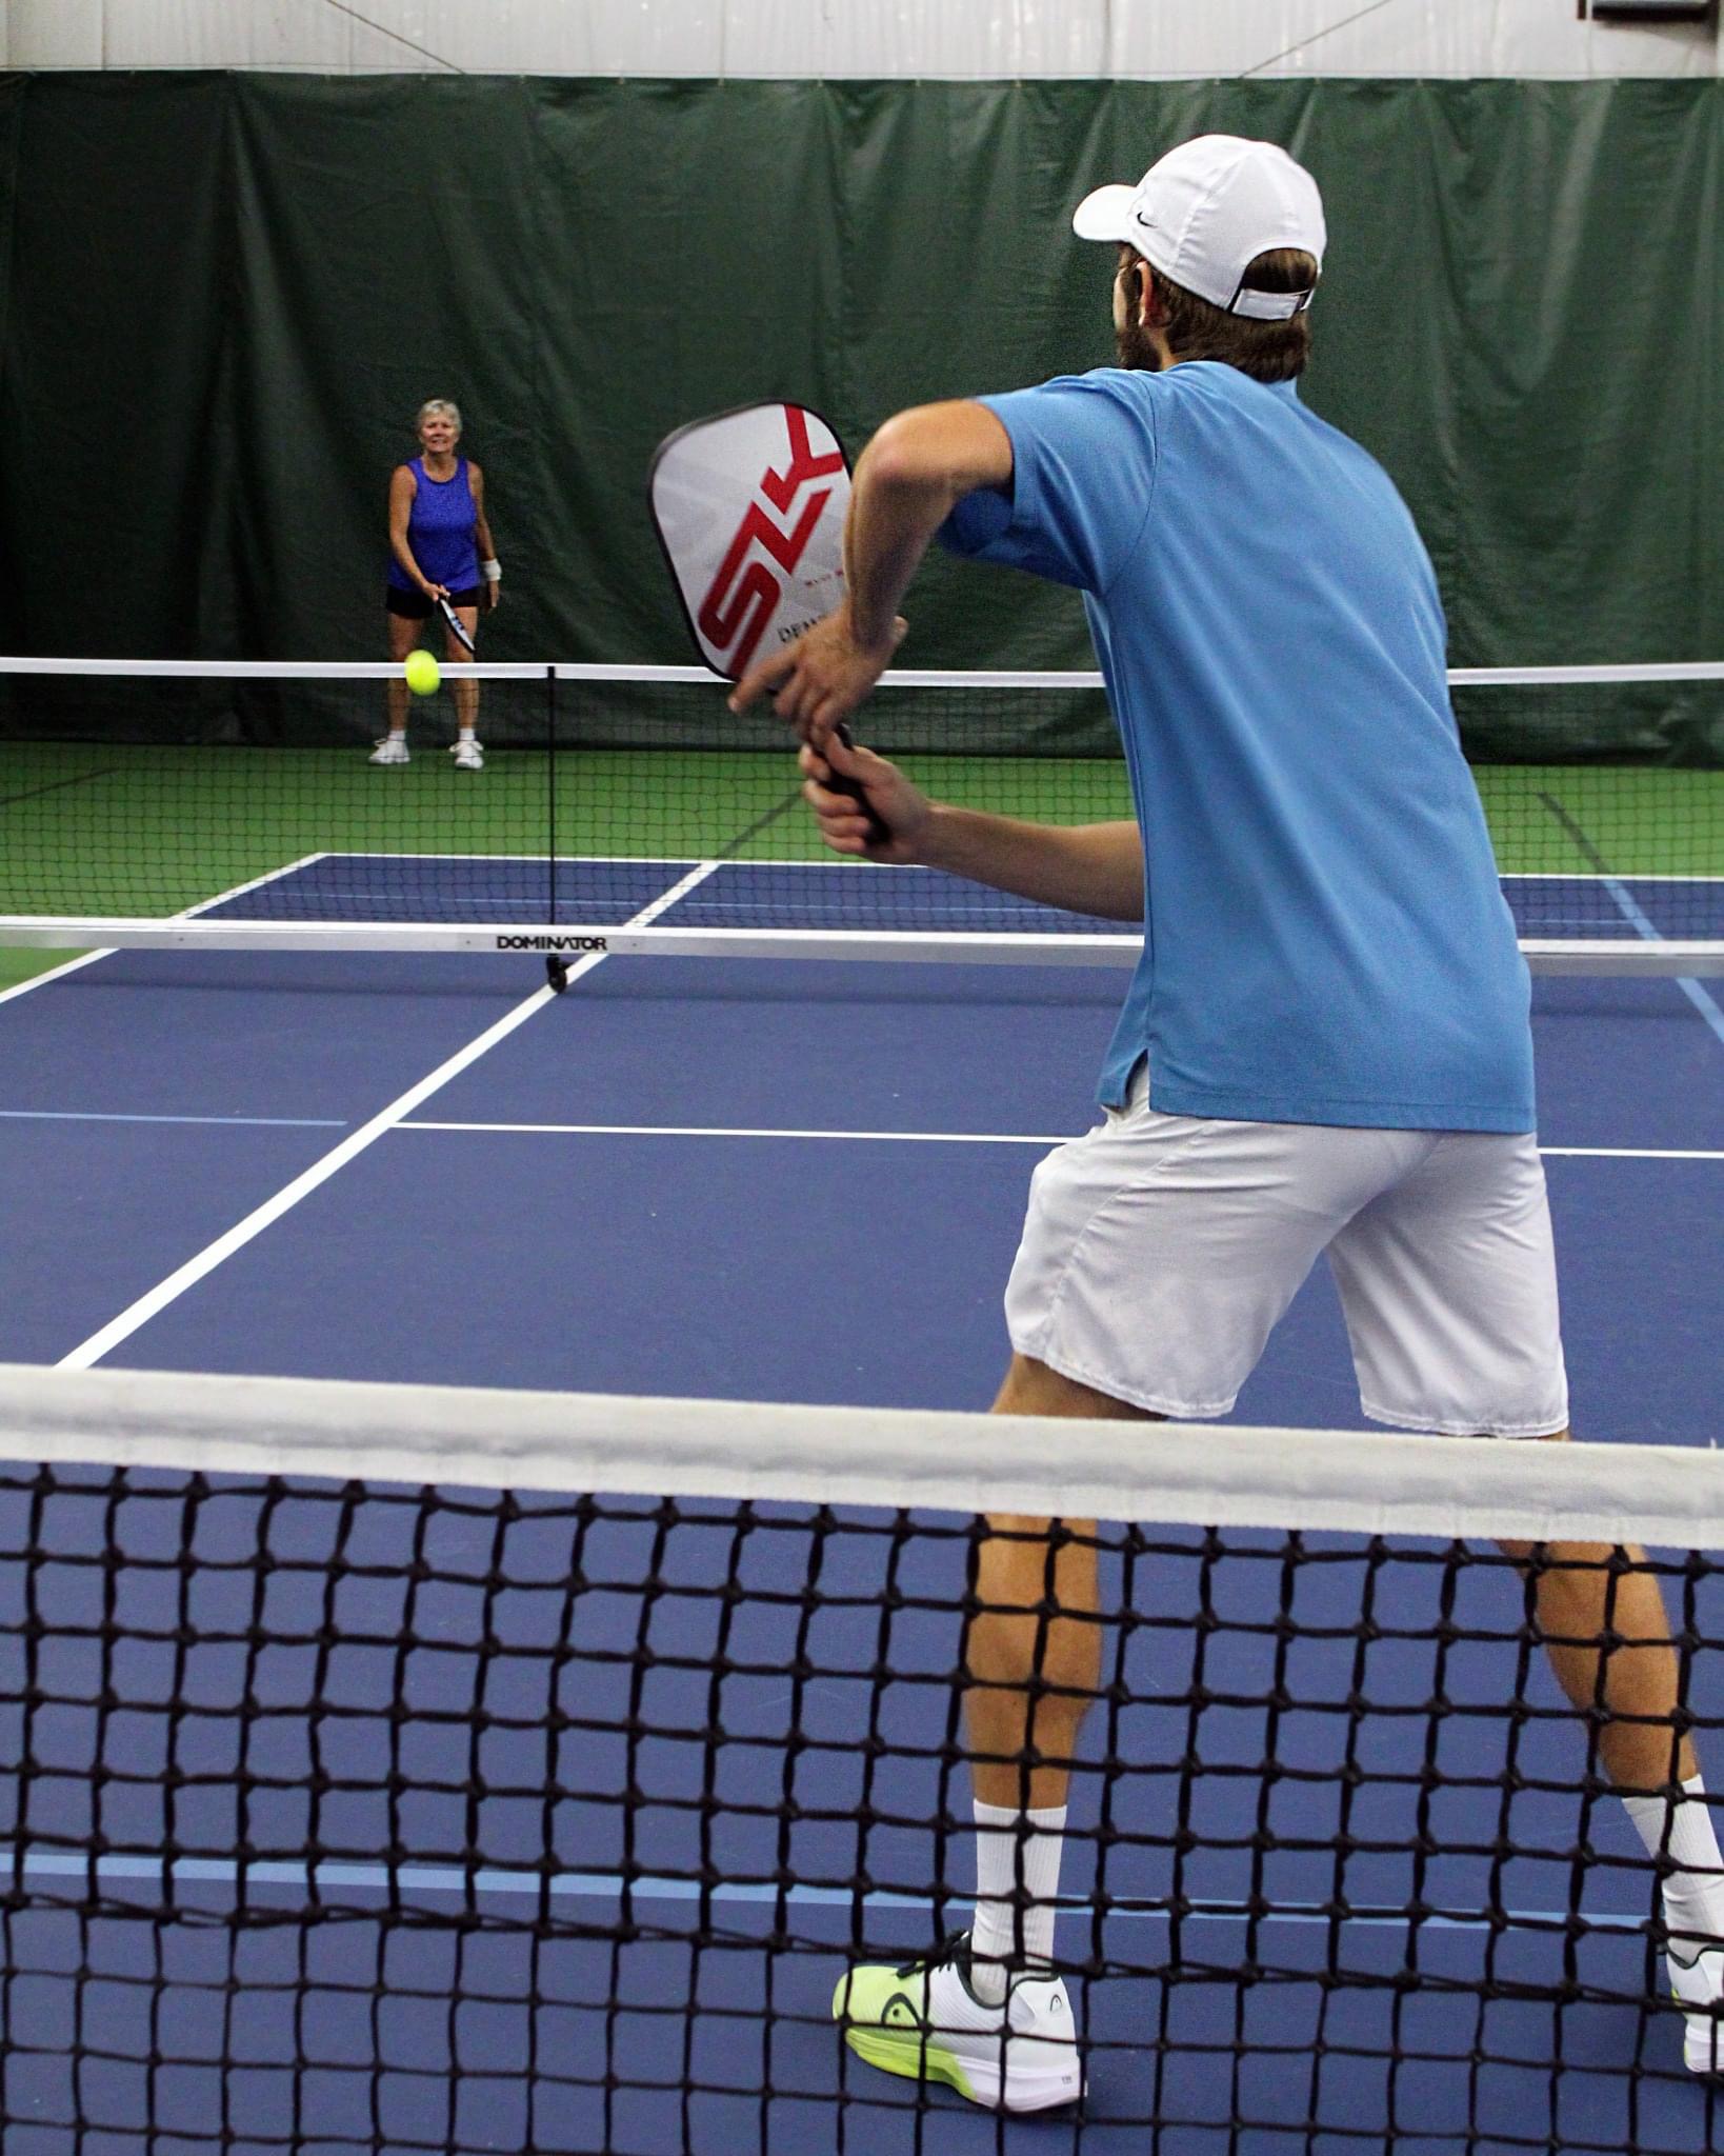
{"type": "Polygon", "coordinates": [[[6,2156],[1720,2145],[1496,1552],[1657,1552],[1718,1781],[1705,1447],[30,1369],[0,1427],[6,2156]],[[976,1507],[1101,1522],[1034,2119],[832,2020],[968,1919],[976,1507]]]}

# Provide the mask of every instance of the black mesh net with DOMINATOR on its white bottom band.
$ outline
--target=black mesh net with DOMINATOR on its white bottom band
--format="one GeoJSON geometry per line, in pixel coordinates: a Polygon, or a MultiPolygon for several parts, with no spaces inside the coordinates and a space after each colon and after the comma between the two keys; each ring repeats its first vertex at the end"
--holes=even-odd
{"type": "MultiPolygon", "coordinates": [[[[379,768],[386,664],[0,660],[0,944],[1129,964],[1138,934],[828,854],[784,729],[687,666],[470,666],[379,768]],[[476,696],[485,768],[453,765],[476,696]]],[[[1724,970],[1724,664],[1455,675],[1534,964],[1724,970]]],[[[1097,675],[892,673],[929,793],[1129,815],[1097,675]]],[[[1388,813],[1388,811],[1386,811],[1388,813]]]]}

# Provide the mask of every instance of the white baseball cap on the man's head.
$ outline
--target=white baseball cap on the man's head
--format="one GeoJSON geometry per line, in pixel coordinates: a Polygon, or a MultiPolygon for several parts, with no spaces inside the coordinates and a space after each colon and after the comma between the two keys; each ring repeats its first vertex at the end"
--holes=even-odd
{"type": "Polygon", "coordinates": [[[1228,315],[1284,321],[1308,291],[1246,291],[1246,272],[1271,248],[1302,248],[1321,267],[1323,196],[1274,142],[1194,136],[1170,149],[1136,188],[1097,188],[1071,216],[1080,239],[1123,239],[1144,261],[1228,315]]]}

